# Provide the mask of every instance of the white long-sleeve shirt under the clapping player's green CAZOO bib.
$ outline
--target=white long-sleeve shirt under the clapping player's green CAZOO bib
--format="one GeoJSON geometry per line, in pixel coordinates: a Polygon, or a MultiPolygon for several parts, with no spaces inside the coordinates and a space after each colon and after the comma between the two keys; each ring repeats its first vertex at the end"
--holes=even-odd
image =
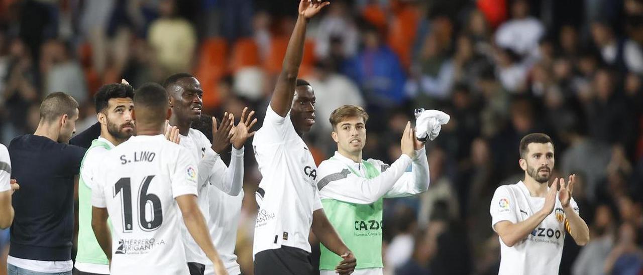
{"type": "Polygon", "coordinates": [[[360,177],[352,172],[365,175],[363,164],[335,152],[334,157],[322,161],[318,168],[318,189],[321,199],[336,199],[354,204],[372,204],[381,197],[408,197],[429,188],[429,163],[426,149],[415,151],[415,159],[401,155],[390,166],[379,159],[368,159],[380,170],[373,179],[360,177]],[[410,172],[406,172],[411,165],[410,172]]]}

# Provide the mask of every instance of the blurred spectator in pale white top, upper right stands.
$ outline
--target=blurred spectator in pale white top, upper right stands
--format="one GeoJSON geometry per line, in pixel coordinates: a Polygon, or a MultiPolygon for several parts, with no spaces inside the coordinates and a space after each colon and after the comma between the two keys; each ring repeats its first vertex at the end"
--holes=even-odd
{"type": "Polygon", "coordinates": [[[515,0],[511,3],[511,19],[496,31],[496,44],[511,49],[518,55],[530,55],[538,46],[545,27],[538,19],[529,16],[529,2],[515,0]]]}

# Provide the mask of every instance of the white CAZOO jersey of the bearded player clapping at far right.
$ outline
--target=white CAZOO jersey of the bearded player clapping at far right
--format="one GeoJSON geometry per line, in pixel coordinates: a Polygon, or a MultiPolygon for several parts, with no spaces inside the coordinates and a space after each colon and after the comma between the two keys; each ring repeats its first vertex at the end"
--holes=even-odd
{"type": "MultiPolygon", "coordinates": [[[[503,220],[514,224],[522,222],[540,211],[544,197],[531,197],[522,181],[499,186],[491,199],[491,227],[503,220]]],[[[578,213],[578,205],[571,199],[570,205],[578,213]]],[[[541,222],[527,238],[508,247],[500,236],[500,271],[498,274],[539,275],[558,274],[558,267],[565,244],[565,211],[556,197],[554,211],[541,222]]]]}

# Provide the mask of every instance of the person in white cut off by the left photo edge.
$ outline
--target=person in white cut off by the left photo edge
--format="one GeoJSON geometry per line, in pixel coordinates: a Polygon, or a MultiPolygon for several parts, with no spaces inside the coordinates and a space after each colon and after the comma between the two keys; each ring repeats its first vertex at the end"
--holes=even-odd
{"type": "Polygon", "coordinates": [[[19,188],[11,178],[11,160],[6,146],[0,144],[0,229],[11,226],[14,221],[14,207],[11,205],[11,195],[19,188]]]}

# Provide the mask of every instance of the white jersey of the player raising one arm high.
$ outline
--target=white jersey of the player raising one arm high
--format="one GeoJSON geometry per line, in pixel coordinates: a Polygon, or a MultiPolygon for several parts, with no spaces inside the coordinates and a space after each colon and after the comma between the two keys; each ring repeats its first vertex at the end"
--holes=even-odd
{"type": "Polygon", "coordinates": [[[310,253],[312,211],[322,208],[317,166],[308,146],[295,132],[290,112],[282,118],[268,105],[253,146],[263,176],[256,195],[259,212],[253,253],[282,245],[310,253]]]}

